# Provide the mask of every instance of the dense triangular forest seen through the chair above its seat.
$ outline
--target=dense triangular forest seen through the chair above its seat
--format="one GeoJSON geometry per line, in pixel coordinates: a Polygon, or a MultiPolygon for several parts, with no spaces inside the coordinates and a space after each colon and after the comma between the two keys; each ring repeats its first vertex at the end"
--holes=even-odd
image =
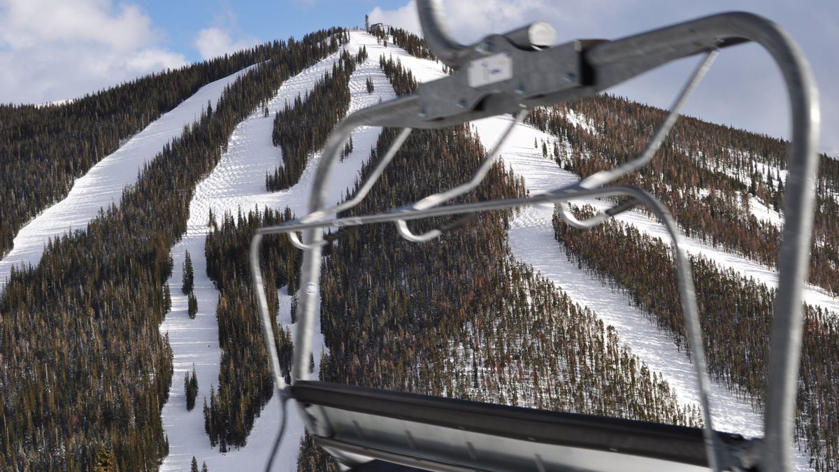
{"type": "MultiPolygon", "coordinates": [[[[396,135],[385,128],[371,159],[396,135]]],[[[347,216],[381,212],[466,181],[486,150],[466,126],[415,130],[381,181],[347,216]]],[[[495,165],[458,202],[522,197],[524,182],[495,165]]],[[[325,248],[321,380],[566,412],[701,424],[666,381],[508,248],[512,211],[486,212],[430,244],[392,225],[340,230],[325,248]]],[[[415,232],[440,223],[412,223],[415,232]]],[[[298,467],[331,470],[301,441],[298,467]]]]}

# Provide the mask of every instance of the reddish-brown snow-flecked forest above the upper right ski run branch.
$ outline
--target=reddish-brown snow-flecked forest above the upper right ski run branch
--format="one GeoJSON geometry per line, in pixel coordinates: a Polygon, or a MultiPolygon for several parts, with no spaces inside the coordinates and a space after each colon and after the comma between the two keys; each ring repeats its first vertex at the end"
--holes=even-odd
{"type": "MultiPolygon", "coordinates": [[[[527,122],[557,141],[545,154],[585,177],[637,157],[664,111],[599,95],[531,110],[527,122]],[[575,119],[570,119],[574,113],[575,119]],[[580,118],[581,117],[581,118],[580,118]],[[587,126],[579,124],[588,120],[587,126]],[[563,145],[567,143],[566,145],[563,145]]],[[[670,208],[688,236],[774,267],[781,232],[750,212],[749,196],[781,210],[788,143],[681,117],[655,158],[619,183],[642,186],[670,208]]],[[[839,165],[820,156],[810,283],[839,294],[839,165]]]]}

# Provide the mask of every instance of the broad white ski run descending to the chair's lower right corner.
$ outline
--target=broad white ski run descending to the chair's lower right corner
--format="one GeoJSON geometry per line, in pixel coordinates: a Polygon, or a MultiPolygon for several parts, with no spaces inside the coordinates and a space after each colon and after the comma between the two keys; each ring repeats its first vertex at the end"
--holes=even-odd
{"type": "MultiPolygon", "coordinates": [[[[513,118],[508,116],[486,118],[474,122],[480,136],[487,137],[486,145],[494,145],[513,118]]],[[[541,143],[545,139],[553,143],[555,138],[527,125],[519,125],[506,144],[502,155],[505,164],[513,172],[524,177],[526,188],[531,193],[547,191],[579,180],[567,170],[560,169],[554,160],[545,158],[541,148],[534,147],[534,139],[541,143]]],[[[524,207],[513,218],[508,231],[510,249],[517,260],[532,265],[554,284],[565,291],[571,299],[589,307],[604,323],[611,324],[619,338],[647,363],[651,370],[664,375],[670,388],[682,403],[698,405],[696,375],[684,352],[675,348],[668,333],[659,331],[649,323],[646,314],[629,306],[627,299],[618,291],[612,291],[578,268],[565,256],[563,247],[554,238],[551,223],[554,206],[550,203],[524,207]]],[[[643,217],[637,213],[638,217],[643,217]]],[[[633,215],[634,217],[634,215],[633,215]]],[[[654,233],[654,223],[634,219],[633,224],[642,231],[654,233]]],[[[664,231],[663,229],[661,230],[664,231]]],[[[696,245],[691,246],[696,249],[696,245]]],[[[725,385],[712,383],[711,412],[714,427],[720,431],[743,434],[746,437],[763,436],[763,418],[753,412],[748,401],[737,398],[725,385]]],[[[808,458],[795,451],[796,467],[808,470],[808,458]]]]}

